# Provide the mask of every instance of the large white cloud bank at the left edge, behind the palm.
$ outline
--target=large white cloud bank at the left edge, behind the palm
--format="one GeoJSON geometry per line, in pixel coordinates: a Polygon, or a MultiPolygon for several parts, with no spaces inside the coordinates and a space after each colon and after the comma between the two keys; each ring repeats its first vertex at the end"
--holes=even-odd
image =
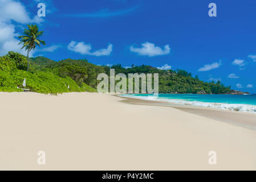
{"type": "MultiPolygon", "coordinates": [[[[43,22],[43,19],[38,16],[30,18],[26,7],[21,2],[0,0],[0,56],[5,55],[8,51],[15,51],[27,55],[25,50],[21,49],[22,45],[18,45],[18,34],[15,32],[15,28],[26,23],[40,22],[43,22]],[[15,25],[14,22],[16,23],[15,25]]],[[[32,54],[33,51],[30,52],[30,56],[32,54]]]]}

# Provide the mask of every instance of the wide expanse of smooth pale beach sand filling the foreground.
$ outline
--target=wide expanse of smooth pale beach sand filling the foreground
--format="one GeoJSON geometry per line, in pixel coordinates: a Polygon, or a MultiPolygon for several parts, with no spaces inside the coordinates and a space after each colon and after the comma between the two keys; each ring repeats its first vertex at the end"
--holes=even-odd
{"type": "Polygon", "coordinates": [[[99,93],[0,93],[0,169],[256,169],[256,131],[236,123],[254,126],[254,115],[131,102],[99,93]],[[38,165],[38,151],[46,165],[38,165]]]}

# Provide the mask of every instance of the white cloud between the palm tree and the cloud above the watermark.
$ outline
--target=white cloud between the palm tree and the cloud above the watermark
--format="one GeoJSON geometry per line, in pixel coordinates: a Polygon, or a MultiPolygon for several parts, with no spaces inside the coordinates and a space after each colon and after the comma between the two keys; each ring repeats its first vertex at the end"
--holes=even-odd
{"type": "Polygon", "coordinates": [[[75,42],[71,41],[70,44],[68,44],[68,49],[70,51],[78,52],[82,55],[91,55],[91,56],[109,56],[112,52],[112,44],[108,44],[108,47],[106,49],[99,49],[95,52],[91,52],[91,45],[85,44],[84,42],[75,42]]]}

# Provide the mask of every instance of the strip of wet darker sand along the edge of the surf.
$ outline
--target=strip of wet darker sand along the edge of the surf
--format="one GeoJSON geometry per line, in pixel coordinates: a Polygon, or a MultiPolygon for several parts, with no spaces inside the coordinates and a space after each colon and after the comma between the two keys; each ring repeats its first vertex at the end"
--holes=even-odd
{"type": "Polygon", "coordinates": [[[216,109],[213,107],[178,105],[172,102],[143,100],[141,98],[131,98],[131,97],[125,97],[121,95],[122,94],[118,94],[116,96],[125,98],[126,100],[123,100],[120,102],[124,102],[127,104],[172,107],[178,110],[185,111],[186,113],[197,114],[202,117],[215,119],[221,122],[227,122],[236,126],[245,127],[247,129],[256,131],[256,121],[255,121],[256,114],[255,113],[222,110],[222,109],[216,109]]]}

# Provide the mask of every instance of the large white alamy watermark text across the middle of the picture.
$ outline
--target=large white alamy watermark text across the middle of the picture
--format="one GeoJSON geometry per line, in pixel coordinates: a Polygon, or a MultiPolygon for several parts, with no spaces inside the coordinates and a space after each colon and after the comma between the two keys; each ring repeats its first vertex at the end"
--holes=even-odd
{"type": "Polygon", "coordinates": [[[153,82],[152,73],[147,73],[147,76],[145,73],[140,73],[140,75],[139,73],[128,73],[127,80],[124,73],[115,75],[115,69],[110,69],[109,77],[106,73],[100,73],[97,76],[97,81],[101,81],[97,85],[99,93],[159,93],[159,73],[154,73],[153,82]]]}

